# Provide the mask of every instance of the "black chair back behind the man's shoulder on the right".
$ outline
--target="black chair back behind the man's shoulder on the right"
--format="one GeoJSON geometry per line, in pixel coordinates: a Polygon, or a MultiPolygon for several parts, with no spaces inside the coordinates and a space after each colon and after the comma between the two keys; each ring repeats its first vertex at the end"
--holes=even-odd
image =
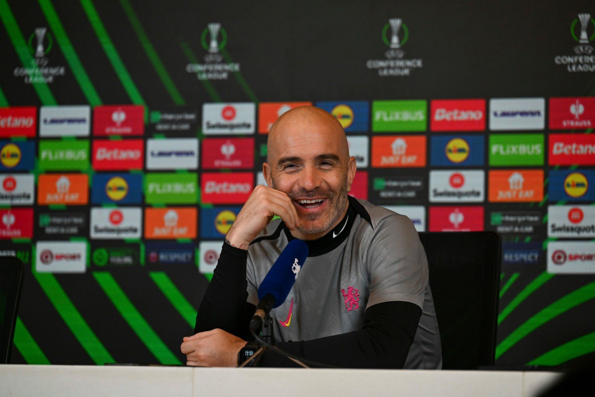
{"type": "Polygon", "coordinates": [[[444,370],[494,365],[501,241],[494,232],[419,233],[430,267],[444,370]]]}

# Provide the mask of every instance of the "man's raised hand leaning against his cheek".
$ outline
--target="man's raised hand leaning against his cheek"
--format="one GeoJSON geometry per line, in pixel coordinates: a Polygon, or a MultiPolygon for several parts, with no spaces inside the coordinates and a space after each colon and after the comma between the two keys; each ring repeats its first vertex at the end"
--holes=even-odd
{"type": "Polygon", "coordinates": [[[267,227],[274,215],[281,217],[290,230],[300,226],[296,208],[286,193],[263,185],[256,186],[228,230],[226,242],[248,249],[250,242],[267,227]]]}

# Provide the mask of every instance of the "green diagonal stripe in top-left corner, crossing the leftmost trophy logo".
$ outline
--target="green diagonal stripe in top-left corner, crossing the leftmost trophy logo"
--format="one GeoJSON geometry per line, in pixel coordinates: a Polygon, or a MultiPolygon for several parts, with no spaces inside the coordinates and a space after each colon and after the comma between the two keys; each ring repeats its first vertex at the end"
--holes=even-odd
{"type": "MultiPolygon", "coordinates": [[[[37,68],[35,59],[33,59],[32,55],[29,53],[29,48],[27,48],[23,33],[21,33],[21,30],[17,25],[17,20],[15,20],[6,0],[0,0],[0,19],[2,20],[2,23],[4,23],[4,27],[8,32],[8,37],[10,37],[21,63],[24,67],[31,68],[34,71],[33,75],[35,76],[35,74],[39,72],[39,69],[37,68]]],[[[44,105],[57,105],[56,99],[46,83],[35,82],[32,83],[32,85],[44,105]]]]}

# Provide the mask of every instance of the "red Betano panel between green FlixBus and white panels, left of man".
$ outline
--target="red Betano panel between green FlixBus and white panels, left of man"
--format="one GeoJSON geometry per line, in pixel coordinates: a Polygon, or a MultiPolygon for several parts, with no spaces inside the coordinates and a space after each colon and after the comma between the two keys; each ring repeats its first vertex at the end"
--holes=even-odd
{"type": "Polygon", "coordinates": [[[93,169],[140,170],[145,159],[145,142],[142,139],[93,141],[93,169]]]}

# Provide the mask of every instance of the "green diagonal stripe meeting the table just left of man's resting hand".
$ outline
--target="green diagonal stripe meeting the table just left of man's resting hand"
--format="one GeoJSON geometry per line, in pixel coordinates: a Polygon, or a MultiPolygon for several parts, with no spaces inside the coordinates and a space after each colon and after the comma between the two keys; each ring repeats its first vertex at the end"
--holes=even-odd
{"type": "Polygon", "coordinates": [[[107,271],[94,271],[93,276],[104,290],[105,295],[155,358],[161,364],[181,364],[180,360],[165,346],[165,343],[149,326],[145,318],[136,310],[114,277],[107,271]]]}

